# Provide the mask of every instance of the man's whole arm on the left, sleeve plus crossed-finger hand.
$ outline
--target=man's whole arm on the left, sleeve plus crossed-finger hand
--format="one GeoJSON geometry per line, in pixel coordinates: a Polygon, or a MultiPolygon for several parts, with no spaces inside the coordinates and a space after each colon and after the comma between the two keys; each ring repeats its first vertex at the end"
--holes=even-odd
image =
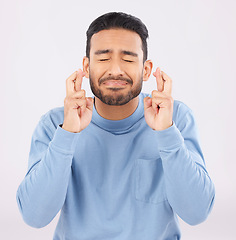
{"type": "Polygon", "coordinates": [[[73,151],[80,132],[92,119],[93,99],[81,90],[83,76],[79,69],[66,80],[64,119],[46,114],[32,137],[29,169],[18,188],[17,203],[23,219],[33,227],[46,226],[66,198],[73,151]]]}

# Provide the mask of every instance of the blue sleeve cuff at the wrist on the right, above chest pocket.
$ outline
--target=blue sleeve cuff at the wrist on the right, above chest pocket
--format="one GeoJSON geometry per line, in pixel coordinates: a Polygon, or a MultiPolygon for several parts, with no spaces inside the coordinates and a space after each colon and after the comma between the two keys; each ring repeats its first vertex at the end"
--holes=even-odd
{"type": "Polygon", "coordinates": [[[172,126],[167,129],[156,131],[156,137],[158,141],[159,150],[173,149],[180,146],[184,142],[184,138],[181,135],[179,129],[176,127],[173,121],[172,126]]]}

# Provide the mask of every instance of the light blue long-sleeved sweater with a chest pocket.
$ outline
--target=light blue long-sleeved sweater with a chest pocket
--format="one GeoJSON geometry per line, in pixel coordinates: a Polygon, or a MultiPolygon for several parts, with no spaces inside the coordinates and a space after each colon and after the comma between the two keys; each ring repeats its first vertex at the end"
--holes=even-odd
{"type": "Polygon", "coordinates": [[[175,100],[173,125],[155,131],[144,118],[146,96],[118,121],[93,107],[80,133],[59,126],[63,107],[41,117],[17,191],[28,225],[44,227],[61,210],[54,240],[174,240],[177,215],[191,225],[207,218],[215,189],[193,112],[175,100]]]}

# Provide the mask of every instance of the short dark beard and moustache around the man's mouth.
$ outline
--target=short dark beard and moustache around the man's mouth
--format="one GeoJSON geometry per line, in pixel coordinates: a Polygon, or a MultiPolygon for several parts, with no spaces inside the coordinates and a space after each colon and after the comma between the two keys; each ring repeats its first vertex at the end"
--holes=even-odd
{"type": "MultiPolygon", "coordinates": [[[[91,71],[90,71],[91,73],[91,71]]],[[[128,103],[130,100],[132,100],[133,98],[137,97],[141,90],[142,90],[142,85],[143,85],[143,78],[140,77],[140,80],[137,82],[137,84],[135,86],[133,86],[133,81],[131,79],[127,79],[124,77],[107,77],[107,78],[101,78],[99,79],[99,86],[106,80],[124,80],[126,82],[128,82],[128,84],[131,84],[133,88],[131,88],[129,90],[129,92],[127,94],[104,94],[103,91],[98,88],[97,86],[95,86],[94,84],[94,79],[92,74],[90,74],[89,76],[89,82],[90,82],[90,88],[92,93],[99,98],[103,103],[108,104],[108,105],[113,105],[113,106],[121,106],[124,105],[126,103],[128,103]]],[[[118,92],[121,90],[121,88],[109,88],[110,91],[112,92],[118,92]]]]}

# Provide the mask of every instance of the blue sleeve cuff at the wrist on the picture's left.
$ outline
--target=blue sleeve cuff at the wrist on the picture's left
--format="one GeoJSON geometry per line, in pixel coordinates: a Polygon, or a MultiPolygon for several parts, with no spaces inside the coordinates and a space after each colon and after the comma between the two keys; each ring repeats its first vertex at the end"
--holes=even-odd
{"type": "Polygon", "coordinates": [[[80,133],[66,131],[61,125],[58,125],[51,143],[61,150],[71,152],[75,148],[77,137],[79,135],[80,133]]]}

